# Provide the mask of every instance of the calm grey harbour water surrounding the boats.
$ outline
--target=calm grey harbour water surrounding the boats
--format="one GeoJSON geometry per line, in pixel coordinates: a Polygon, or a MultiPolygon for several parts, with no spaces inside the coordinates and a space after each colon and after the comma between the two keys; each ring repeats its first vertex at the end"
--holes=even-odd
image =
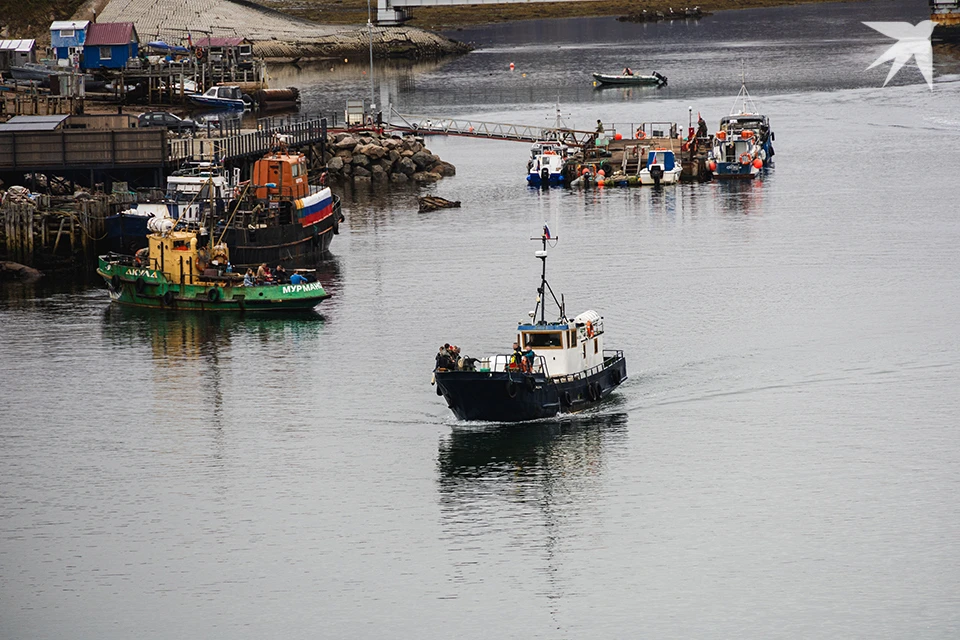
{"type": "MultiPolygon", "coordinates": [[[[960,83],[940,53],[932,92],[859,71],[887,45],[855,25],[898,7],[832,5],[849,42],[804,26],[814,7],[754,14],[753,49],[784,46],[784,15],[805,43],[748,69],[777,135],[755,183],[541,192],[525,145],[431,138],[458,175],[428,191],[463,208],[347,194],[318,314],[4,286],[0,637],[956,637],[960,83]],[[459,423],[436,348],[509,346],[545,221],[554,288],[605,316],[630,379],[576,418],[459,423]]],[[[501,40],[413,72],[410,104],[551,118],[546,81],[454,103],[490,81],[451,70],[565,42],[479,32],[501,40]]],[[[680,65],[671,93],[562,108],[713,127],[725,42],[696,73],[729,88],[680,65]]]]}

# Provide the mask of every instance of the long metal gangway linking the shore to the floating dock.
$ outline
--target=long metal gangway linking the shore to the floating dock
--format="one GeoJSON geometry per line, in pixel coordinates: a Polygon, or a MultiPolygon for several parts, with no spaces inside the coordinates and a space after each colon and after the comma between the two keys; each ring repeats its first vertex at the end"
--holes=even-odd
{"type": "Polygon", "coordinates": [[[578,131],[565,127],[542,127],[524,124],[504,124],[482,120],[440,118],[392,112],[387,128],[417,135],[448,135],[488,140],[516,140],[537,142],[555,140],[568,147],[582,147],[596,138],[594,131],[578,131]]]}

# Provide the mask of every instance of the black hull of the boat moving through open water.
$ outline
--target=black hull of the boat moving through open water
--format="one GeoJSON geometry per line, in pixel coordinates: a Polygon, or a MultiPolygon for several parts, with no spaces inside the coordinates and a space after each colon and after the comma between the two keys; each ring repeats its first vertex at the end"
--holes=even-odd
{"type": "Polygon", "coordinates": [[[461,420],[524,422],[574,413],[604,400],[627,379],[626,358],[590,376],[546,378],[507,371],[437,371],[437,390],[461,420]]]}

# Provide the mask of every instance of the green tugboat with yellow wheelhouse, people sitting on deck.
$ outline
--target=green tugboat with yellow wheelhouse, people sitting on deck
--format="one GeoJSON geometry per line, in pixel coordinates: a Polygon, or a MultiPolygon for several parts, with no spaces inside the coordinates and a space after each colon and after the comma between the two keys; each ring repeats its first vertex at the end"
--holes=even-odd
{"type": "Polygon", "coordinates": [[[304,311],[330,294],[319,282],[243,285],[227,273],[225,244],[208,246],[196,231],[177,231],[173,221],[155,225],[148,246],[135,256],[100,256],[97,273],[110,299],[123,305],[182,311],[304,311]]]}

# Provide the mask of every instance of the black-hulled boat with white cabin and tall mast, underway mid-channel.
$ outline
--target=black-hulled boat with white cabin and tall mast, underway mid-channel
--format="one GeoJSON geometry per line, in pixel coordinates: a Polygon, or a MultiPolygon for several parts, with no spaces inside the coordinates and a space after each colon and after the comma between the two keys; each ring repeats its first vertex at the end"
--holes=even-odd
{"type": "MultiPolygon", "coordinates": [[[[537,307],[529,323],[517,326],[514,352],[486,358],[437,357],[437,394],[461,420],[519,422],[549,418],[594,406],[627,379],[622,351],[603,348],[603,317],[585,311],[568,319],[563,302],[547,284],[547,241],[536,257],[543,262],[537,307]],[[559,309],[546,320],[546,294],[559,309]],[[539,311],[540,319],[537,320],[539,311]]],[[[446,345],[445,345],[446,346],[446,345]]]]}

